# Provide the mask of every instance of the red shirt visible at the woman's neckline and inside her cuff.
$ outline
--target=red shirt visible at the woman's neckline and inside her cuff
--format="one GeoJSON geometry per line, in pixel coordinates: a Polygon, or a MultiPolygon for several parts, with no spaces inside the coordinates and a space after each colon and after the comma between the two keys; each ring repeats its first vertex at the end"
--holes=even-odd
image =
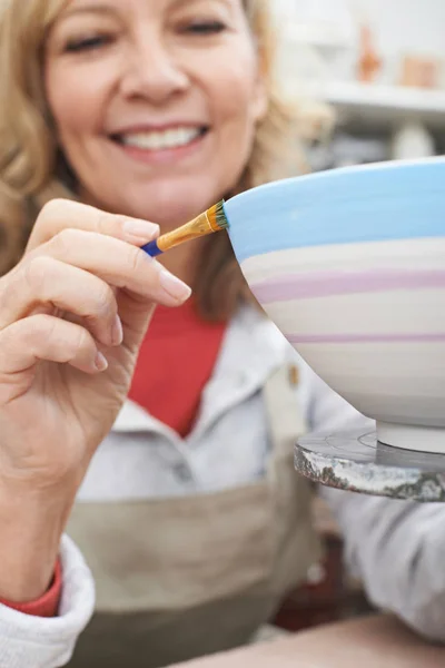
{"type": "MultiPolygon", "coordinates": [[[[178,308],[158,306],[141,345],[129,397],[160,422],[186,436],[196,420],[201,392],[209,381],[225,323],[204,321],[189,299],[178,308]]],[[[0,603],[36,617],[56,617],[62,591],[60,562],[49,590],[37,601],[0,603]]]]}

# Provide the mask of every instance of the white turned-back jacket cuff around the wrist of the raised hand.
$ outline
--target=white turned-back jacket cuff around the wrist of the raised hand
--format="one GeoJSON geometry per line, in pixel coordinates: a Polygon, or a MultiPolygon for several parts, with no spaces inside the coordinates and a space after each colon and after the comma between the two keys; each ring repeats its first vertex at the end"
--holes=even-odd
{"type": "Polygon", "coordinates": [[[58,668],[71,658],[93,611],[95,586],[81,553],[67,537],[60,560],[63,584],[58,617],[33,617],[0,605],[1,668],[58,668]]]}

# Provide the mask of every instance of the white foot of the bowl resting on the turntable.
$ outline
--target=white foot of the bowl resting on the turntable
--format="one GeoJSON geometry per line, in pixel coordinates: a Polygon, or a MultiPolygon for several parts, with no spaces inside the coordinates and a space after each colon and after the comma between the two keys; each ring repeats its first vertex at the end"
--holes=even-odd
{"type": "Polygon", "coordinates": [[[445,429],[377,422],[377,439],[385,445],[445,454],[445,429]]]}

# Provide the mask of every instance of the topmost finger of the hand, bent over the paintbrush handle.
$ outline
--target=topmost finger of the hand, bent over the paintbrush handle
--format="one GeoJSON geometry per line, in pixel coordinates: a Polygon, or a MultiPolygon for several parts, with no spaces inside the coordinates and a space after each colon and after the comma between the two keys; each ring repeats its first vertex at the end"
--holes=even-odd
{"type": "Polygon", "coordinates": [[[69,199],[52,199],[40,212],[32,229],[28,250],[49,242],[63,229],[82,229],[142,246],[159,235],[159,225],[148,220],[107,214],[92,206],[69,199]]]}

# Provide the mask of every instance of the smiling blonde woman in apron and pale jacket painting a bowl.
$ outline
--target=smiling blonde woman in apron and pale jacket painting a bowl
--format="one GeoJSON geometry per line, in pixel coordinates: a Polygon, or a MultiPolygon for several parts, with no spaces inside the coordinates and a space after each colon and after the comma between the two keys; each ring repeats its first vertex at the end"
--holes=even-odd
{"type": "MultiPolygon", "coordinates": [[[[69,660],[93,608],[75,543],[97,613],[70,665],[96,668],[247,641],[319,556],[293,444],[364,419],[249,303],[225,235],[164,266],[138,248],[296,169],[268,24],[261,0],[6,2],[2,668],[69,660]]],[[[442,508],[333,503],[376,603],[444,639],[442,508]]]]}

